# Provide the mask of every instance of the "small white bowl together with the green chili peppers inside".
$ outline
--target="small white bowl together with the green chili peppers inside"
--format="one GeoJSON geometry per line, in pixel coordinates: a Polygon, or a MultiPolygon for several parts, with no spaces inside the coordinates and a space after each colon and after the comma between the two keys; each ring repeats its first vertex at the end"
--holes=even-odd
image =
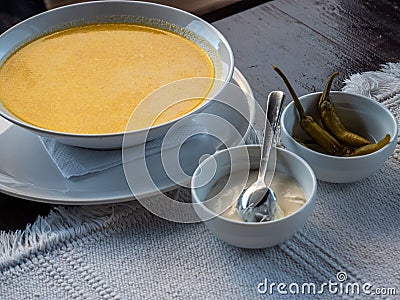
{"type": "Polygon", "coordinates": [[[393,153],[398,125],[379,102],[362,95],[330,91],[333,73],[322,92],[297,97],[279,68],[293,101],[281,117],[281,140],[313,168],[317,179],[354,182],[376,173],[393,153]]]}

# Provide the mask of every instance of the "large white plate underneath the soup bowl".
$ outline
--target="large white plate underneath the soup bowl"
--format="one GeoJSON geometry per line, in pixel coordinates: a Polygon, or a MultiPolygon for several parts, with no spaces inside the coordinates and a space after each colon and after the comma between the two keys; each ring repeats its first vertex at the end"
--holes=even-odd
{"type": "MultiPolygon", "coordinates": [[[[254,121],[255,103],[250,86],[243,75],[235,69],[233,83],[244,93],[232,101],[247,102],[250,121],[254,121]]],[[[217,116],[226,115],[224,107],[212,103],[208,113],[217,116]]],[[[225,117],[225,116],[224,116],[225,117]]],[[[240,118],[228,116],[230,122],[244,134],[247,128],[240,118]]],[[[197,119],[198,121],[198,119],[197,119]]],[[[208,124],[204,124],[206,127],[208,124]]],[[[104,204],[133,200],[133,194],[126,182],[123,166],[65,179],[54,165],[38,137],[26,129],[0,119],[0,191],[15,197],[54,204],[104,204]]],[[[198,158],[205,153],[213,153],[221,144],[206,136],[194,137],[186,147],[182,147],[180,155],[186,159],[184,169],[193,174],[198,158]],[[194,158],[194,159],[193,159],[194,158]]],[[[233,145],[232,145],[233,146],[233,145]]],[[[162,170],[161,160],[157,155],[151,159],[149,169],[156,174],[153,180],[160,190],[172,189],[176,186],[162,170]]],[[[138,172],[137,180],[140,180],[138,172]]],[[[141,191],[135,195],[145,197],[154,191],[141,191]]]]}

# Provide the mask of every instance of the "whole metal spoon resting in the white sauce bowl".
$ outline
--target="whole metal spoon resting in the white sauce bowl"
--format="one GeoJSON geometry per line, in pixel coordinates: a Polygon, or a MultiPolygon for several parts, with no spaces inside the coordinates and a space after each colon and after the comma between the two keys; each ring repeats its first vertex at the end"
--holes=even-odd
{"type": "Polygon", "coordinates": [[[238,213],[246,222],[267,222],[283,217],[274,191],[265,183],[272,144],[276,142],[276,131],[285,94],[273,91],[268,95],[265,118],[264,141],[261,145],[261,160],[257,181],[244,189],[237,202],[238,213]],[[272,132],[269,129],[272,128],[272,132]]]}

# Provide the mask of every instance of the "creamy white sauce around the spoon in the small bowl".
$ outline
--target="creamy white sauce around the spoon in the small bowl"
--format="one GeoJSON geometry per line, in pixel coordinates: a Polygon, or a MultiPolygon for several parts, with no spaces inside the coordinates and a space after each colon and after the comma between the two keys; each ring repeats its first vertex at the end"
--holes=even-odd
{"type": "MultiPolygon", "coordinates": [[[[234,172],[231,174],[231,178],[225,176],[217,181],[207,195],[206,206],[225,218],[243,221],[237,212],[236,201],[242,192],[243,178],[246,178],[247,174],[247,171],[234,172]],[[215,197],[216,195],[218,196],[215,197]]],[[[258,170],[250,171],[246,188],[256,181],[257,175],[258,170]]],[[[306,202],[306,197],[299,184],[282,172],[274,173],[271,188],[285,216],[294,213],[306,202]]]]}

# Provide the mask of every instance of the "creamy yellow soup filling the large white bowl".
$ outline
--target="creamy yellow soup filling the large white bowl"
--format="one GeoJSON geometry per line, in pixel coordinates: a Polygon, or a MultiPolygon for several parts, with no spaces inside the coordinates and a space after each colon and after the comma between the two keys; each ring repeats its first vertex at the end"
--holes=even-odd
{"type": "MultiPolygon", "coordinates": [[[[191,77],[214,77],[210,58],[194,42],[139,25],[89,25],[41,37],[11,55],[0,68],[0,99],[38,127],[122,132],[148,94],[191,77]]],[[[190,112],[204,97],[168,109],[156,123],[190,112]]]]}

